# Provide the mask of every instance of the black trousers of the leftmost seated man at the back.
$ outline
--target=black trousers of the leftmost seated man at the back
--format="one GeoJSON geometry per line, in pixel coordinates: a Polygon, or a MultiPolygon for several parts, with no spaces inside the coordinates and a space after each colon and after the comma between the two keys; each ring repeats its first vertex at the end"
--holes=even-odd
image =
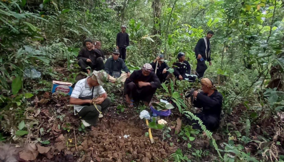
{"type": "Polygon", "coordinates": [[[87,61],[80,59],[78,61],[78,65],[81,67],[81,70],[83,72],[86,72],[87,67],[90,67],[91,71],[92,70],[100,71],[104,69],[104,61],[102,57],[97,58],[95,63],[87,62],[87,61]]]}

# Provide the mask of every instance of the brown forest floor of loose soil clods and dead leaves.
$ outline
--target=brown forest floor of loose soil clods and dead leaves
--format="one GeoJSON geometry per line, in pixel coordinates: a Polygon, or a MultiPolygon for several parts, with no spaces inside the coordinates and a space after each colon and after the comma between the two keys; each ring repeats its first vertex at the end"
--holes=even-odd
{"type": "MultiPolygon", "coordinates": [[[[57,69],[61,69],[60,72],[64,73],[64,67],[57,69]]],[[[68,76],[68,74],[66,75],[68,76]]],[[[171,161],[170,155],[180,148],[185,156],[192,161],[218,159],[216,150],[209,145],[210,140],[206,135],[202,135],[202,132],[196,134],[196,139],[193,141],[183,140],[183,137],[175,134],[175,132],[183,131],[182,129],[186,125],[178,110],[172,111],[168,118],[164,118],[168,122],[167,131],[152,129],[155,143],[151,144],[149,137],[147,137],[148,127],[145,121],[139,118],[141,110],[125,108],[122,111],[117,106],[125,104],[123,94],[117,93],[115,95],[119,96],[120,99],[112,103],[104,117],[99,119],[96,130],[92,131],[85,128],[79,117],[74,115],[73,106],[69,105],[69,96],[51,94],[50,92],[37,95],[32,99],[31,105],[25,112],[29,134],[14,139],[19,141],[17,145],[0,147],[0,150],[2,149],[0,157],[10,155],[18,160],[29,159],[37,162],[163,162],[171,161]],[[129,135],[129,137],[125,138],[125,135],[129,135]],[[50,143],[46,144],[44,141],[50,143]],[[188,143],[195,150],[206,150],[202,155],[202,160],[190,155],[188,143]],[[19,156],[15,152],[19,152],[19,156]]],[[[245,111],[246,107],[241,105],[235,107],[231,115],[224,116],[224,122],[222,122],[220,129],[213,133],[214,139],[219,147],[221,146],[219,149],[224,149],[223,142],[227,143],[228,138],[232,137],[223,132],[224,130],[243,130],[244,125],[243,122],[240,122],[240,117],[244,115],[245,111]],[[228,125],[228,123],[230,124],[228,125]]],[[[265,136],[270,137],[272,142],[280,140],[283,143],[284,131],[280,122],[270,118],[266,121],[254,123],[259,124],[251,125],[251,139],[256,141],[259,140],[260,136],[265,136]]],[[[233,140],[236,143],[241,143],[236,137],[233,140]]],[[[258,151],[260,148],[264,148],[262,144],[265,142],[258,143],[255,141],[247,142],[243,147],[245,147],[247,153],[257,157],[259,156],[258,151]]],[[[275,156],[276,152],[277,156],[284,154],[281,145],[267,146],[270,147],[268,151],[272,151],[275,156]]],[[[267,159],[269,158],[267,157],[267,159]]]]}

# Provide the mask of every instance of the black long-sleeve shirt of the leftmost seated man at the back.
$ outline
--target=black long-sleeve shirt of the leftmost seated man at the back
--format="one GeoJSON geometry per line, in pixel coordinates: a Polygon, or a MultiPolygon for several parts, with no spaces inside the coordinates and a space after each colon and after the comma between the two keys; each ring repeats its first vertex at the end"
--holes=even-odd
{"type": "Polygon", "coordinates": [[[82,59],[83,61],[87,61],[87,59],[90,59],[93,64],[96,63],[96,59],[100,57],[101,54],[97,49],[92,49],[89,51],[86,47],[81,48],[79,51],[79,54],[77,56],[77,59],[82,59]]]}

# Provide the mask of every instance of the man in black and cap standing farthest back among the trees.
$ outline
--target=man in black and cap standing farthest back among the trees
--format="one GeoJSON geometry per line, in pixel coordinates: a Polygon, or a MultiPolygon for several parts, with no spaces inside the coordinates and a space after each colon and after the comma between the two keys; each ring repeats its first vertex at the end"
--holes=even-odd
{"type": "Polygon", "coordinates": [[[129,46],[129,35],[125,32],[126,26],[121,26],[121,32],[116,36],[116,48],[119,50],[119,58],[126,59],[126,47],[129,46]]]}

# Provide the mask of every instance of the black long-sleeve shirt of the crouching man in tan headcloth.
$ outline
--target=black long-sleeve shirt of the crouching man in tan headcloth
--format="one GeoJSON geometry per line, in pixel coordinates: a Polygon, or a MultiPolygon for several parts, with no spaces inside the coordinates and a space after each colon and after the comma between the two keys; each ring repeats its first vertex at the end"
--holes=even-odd
{"type": "Polygon", "coordinates": [[[205,116],[211,115],[218,119],[222,110],[223,96],[217,90],[210,96],[207,93],[200,92],[197,94],[196,100],[193,101],[194,107],[203,108],[203,114],[205,116]]]}

